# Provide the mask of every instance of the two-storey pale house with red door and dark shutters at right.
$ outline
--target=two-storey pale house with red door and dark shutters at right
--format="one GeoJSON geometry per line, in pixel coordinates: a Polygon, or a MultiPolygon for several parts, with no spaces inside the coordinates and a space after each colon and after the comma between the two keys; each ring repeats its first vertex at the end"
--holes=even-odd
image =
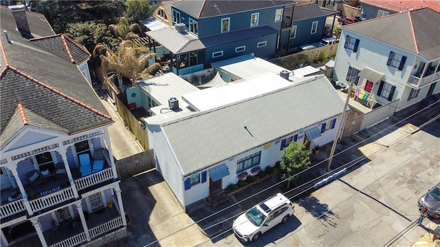
{"type": "Polygon", "coordinates": [[[429,8],[342,27],[333,76],[364,105],[396,111],[440,92],[440,13],[429,8]]]}

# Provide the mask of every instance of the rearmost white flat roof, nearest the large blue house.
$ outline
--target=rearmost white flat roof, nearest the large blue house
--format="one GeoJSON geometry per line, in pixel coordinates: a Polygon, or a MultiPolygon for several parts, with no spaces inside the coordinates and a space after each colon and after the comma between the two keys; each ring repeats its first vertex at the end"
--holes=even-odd
{"type": "Polygon", "coordinates": [[[214,69],[223,70],[242,79],[266,74],[267,72],[280,74],[281,71],[287,70],[274,63],[255,57],[252,54],[237,56],[235,58],[211,63],[211,65],[214,69]]]}

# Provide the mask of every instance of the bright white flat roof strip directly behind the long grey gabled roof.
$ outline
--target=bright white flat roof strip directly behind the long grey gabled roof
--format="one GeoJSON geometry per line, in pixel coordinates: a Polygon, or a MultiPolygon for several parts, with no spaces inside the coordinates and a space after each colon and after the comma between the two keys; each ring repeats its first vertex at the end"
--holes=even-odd
{"type": "Polygon", "coordinates": [[[247,98],[289,87],[292,82],[273,73],[236,80],[226,85],[203,89],[181,96],[196,111],[206,111],[247,98]]]}

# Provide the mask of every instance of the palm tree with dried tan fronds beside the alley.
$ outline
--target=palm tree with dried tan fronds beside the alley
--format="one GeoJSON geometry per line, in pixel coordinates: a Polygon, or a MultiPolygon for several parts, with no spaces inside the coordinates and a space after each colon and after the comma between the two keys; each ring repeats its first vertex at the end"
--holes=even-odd
{"type": "Polygon", "coordinates": [[[107,45],[99,43],[92,54],[94,57],[99,56],[101,69],[105,74],[114,73],[118,77],[121,91],[122,76],[129,78],[134,86],[138,78],[147,78],[162,69],[160,63],[148,63],[151,58],[157,58],[157,54],[133,41],[122,41],[116,53],[111,52],[107,45]]]}

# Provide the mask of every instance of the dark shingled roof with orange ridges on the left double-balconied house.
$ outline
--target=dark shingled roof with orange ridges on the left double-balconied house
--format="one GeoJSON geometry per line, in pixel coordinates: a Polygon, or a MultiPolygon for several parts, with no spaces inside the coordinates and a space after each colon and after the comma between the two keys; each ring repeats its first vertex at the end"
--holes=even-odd
{"type": "MultiPolygon", "coordinates": [[[[30,16],[38,19],[39,15],[26,12],[26,17],[30,16]]],[[[17,30],[12,12],[5,7],[0,7],[0,21],[10,41],[4,34],[0,36],[1,147],[24,125],[72,134],[112,122],[74,64],[85,57],[79,45],[64,35],[26,39],[17,30]],[[34,42],[42,42],[39,45],[43,48],[34,42]],[[68,50],[63,52],[66,47],[68,50]],[[22,116],[27,120],[21,121],[22,116]]],[[[34,37],[51,30],[46,22],[47,29],[29,19],[28,23],[34,37]],[[37,28],[32,29],[34,26],[37,28]]]]}

